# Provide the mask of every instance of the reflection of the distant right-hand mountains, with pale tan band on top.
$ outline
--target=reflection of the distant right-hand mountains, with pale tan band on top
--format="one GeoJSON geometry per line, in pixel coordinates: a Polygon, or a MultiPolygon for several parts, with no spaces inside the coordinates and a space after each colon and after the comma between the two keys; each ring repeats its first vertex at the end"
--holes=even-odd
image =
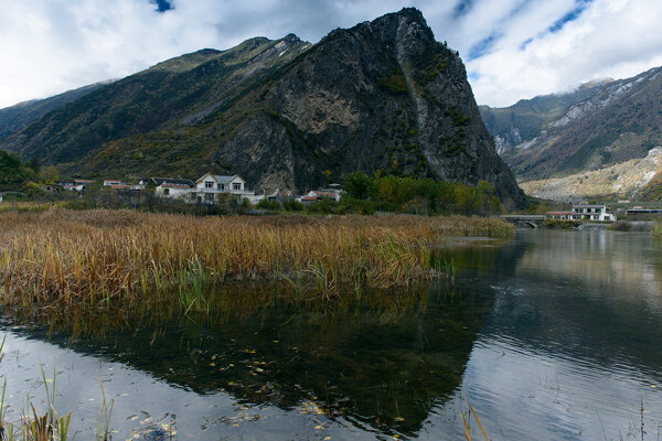
{"type": "Polygon", "coordinates": [[[496,283],[490,332],[534,352],[659,370],[662,255],[648,234],[543,232],[519,241],[528,246],[496,283]]]}

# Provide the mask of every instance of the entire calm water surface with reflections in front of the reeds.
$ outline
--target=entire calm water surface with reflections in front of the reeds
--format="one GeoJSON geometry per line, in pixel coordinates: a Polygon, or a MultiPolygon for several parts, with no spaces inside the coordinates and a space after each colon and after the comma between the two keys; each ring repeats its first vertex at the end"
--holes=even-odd
{"type": "Polygon", "coordinates": [[[108,323],[6,311],[7,420],[26,396],[43,409],[43,366],[76,439],[99,419],[99,379],[115,440],[461,439],[468,402],[492,440],[641,440],[642,424],[660,439],[662,243],[532,230],[442,252],[455,283],[407,298],[302,305],[243,288],[210,318],[136,308],[108,323]]]}

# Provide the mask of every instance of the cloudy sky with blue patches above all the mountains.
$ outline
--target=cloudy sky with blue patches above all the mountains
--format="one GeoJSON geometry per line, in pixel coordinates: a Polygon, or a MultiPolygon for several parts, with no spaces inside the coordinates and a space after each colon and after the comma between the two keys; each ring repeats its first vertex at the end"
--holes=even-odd
{"type": "Polygon", "coordinates": [[[0,0],[0,108],[253,36],[314,43],[404,7],[460,53],[478,104],[662,65],[660,0],[0,0]]]}

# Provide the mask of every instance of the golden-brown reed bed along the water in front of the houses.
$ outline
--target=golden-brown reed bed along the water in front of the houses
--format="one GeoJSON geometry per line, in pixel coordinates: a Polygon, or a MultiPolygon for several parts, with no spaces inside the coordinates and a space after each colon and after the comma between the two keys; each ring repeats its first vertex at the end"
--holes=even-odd
{"type": "Polygon", "coordinates": [[[337,295],[431,279],[444,237],[506,237],[498,219],[419,216],[193,217],[130,211],[0,213],[4,304],[104,304],[179,292],[200,309],[210,286],[287,281],[337,295]]]}

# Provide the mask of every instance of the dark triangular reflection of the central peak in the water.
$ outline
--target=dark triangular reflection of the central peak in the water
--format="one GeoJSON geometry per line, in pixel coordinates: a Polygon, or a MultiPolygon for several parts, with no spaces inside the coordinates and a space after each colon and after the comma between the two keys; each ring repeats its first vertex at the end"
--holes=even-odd
{"type": "MultiPolygon", "coordinates": [[[[285,409],[311,401],[311,411],[413,433],[460,385],[492,310],[490,295],[447,294],[433,290],[401,309],[319,310],[273,297],[217,322],[143,319],[106,337],[79,338],[73,348],[197,394],[227,391],[247,405],[285,409]]],[[[43,326],[26,334],[49,338],[43,326]]],[[[55,331],[50,340],[66,345],[68,337],[55,331]]]]}

